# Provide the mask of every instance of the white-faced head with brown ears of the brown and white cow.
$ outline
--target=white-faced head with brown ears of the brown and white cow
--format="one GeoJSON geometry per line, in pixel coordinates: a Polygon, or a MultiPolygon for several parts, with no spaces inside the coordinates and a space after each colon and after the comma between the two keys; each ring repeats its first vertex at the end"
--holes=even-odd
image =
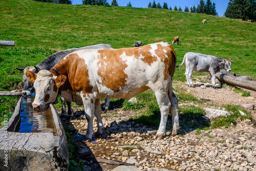
{"type": "Polygon", "coordinates": [[[67,80],[65,75],[56,77],[47,70],[41,70],[38,74],[26,71],[25,75],[31,83],[34,83],[36,94],[32,105],[35,109],[44,109],[46,105],[54,102],[58,95],[59,87],[67,80]]]}

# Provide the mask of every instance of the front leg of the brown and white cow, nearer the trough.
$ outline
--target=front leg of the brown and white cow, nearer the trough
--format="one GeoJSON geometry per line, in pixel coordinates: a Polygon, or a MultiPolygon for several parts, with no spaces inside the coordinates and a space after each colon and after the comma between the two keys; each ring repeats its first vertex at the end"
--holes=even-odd
{"type": "Polygon", "coordinates": [[[86,142],[89,142],[92,139],[92,135],[93,135],[93,118],[94,118],[95,99],[92,99],[92,98],[85,99],[82,97],[82,101],[84,105],[84,113],[88,121],[86,142]]]}

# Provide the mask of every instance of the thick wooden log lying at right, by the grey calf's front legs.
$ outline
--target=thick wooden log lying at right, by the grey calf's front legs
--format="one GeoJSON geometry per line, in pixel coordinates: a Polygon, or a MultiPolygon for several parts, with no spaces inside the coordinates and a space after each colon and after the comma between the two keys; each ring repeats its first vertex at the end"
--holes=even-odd
{"type": "Polygon", "coordinates": [[[227,75],[227,74],[223,74],[223,73],[219,72],[219,73],[216,73],[216,78],[218,78],[221,81],[230,83],[233,86],[238,86],[238,87],[241,87],[244,89],[256,91],[256,82],[244,79],[244,77],[240,78],[240,77],[227,75]]]}

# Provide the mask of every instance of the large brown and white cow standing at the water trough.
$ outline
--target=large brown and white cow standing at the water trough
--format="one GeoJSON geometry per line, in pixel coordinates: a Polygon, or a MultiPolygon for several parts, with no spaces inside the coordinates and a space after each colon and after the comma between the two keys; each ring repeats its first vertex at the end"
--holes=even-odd
{"type": "Polygon", "coordinates": [[[38,75],[27,71],[36,91],[33,107],[45,108],[53,102],[61,89],[67,101],[84,105],[88,120],[86,138],[92,139],[93,117],[97,117],[98,134],[102,134],[100,98],[129,99],[152,89],[161,112],[157,136],[163,138],[168,112],[172,114],[173,132],[179,130],[178,99],[172,81],[176,69],[176,54],[166,42],[137,48],[96,49],[75,51],[50,71],[38,75]]]}

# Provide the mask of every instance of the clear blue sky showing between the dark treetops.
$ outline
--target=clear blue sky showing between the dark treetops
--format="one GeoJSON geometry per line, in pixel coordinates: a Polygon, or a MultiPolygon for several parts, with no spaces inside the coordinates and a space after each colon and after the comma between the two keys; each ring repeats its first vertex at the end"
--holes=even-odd
{"type": "MultiPolygon", "coordinates": [[[[82,0],[71,0],[72,4],[82,4],[82,0]]],[[[148,3],[153,3],[154,0],[117,0],[118,6],[127,6],[129,1],[132,4],[132,7],[139,7],[139,8],[145,8],[147,7],[148,3]]],[[[108,0],[109,4],[111,5],[112,0],[108,0]]],[[[172,7],[174,9],[175,5],[177,8],[181,7],[182,11],[184,11],[185,6],[187,6],[189,9],[190,7],[197,7],[200,0],[179,0],[179,1],[168,1],[168,0],[155,0],[156,4],[160,3],[161,6],[163,6],[163,3],[167,3],[168,8],[172,7]]],[[[204,0],[206,2],[206,0],[204,0]]],[[[229,0],[211,0],[211,3],[216,4],[216,11],[218,12],[219,16],[223,16],[224,12],[227,9],[227,4],[229,0]]]]}

